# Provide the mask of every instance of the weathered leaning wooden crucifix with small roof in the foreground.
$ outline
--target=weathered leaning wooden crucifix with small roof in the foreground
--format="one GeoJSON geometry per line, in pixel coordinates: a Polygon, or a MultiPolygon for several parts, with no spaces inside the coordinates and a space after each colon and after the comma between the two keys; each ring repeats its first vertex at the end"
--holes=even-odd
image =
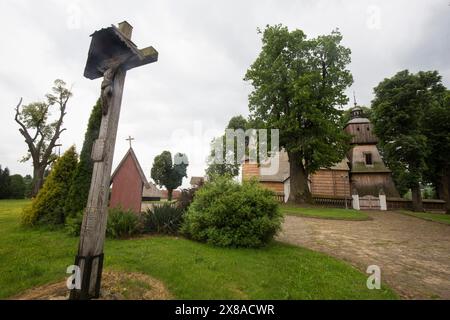
{"type": "Polygon", "coordinates": [[[153,47],[137,48],[131,41],[132,30],[133,27],[124,21],[118,27],[112,25],[91,35],[84,76],[91,80],[103,77],[102,121],[98,139],[92,147],[91,187],[75,257],[81,287],[71,290],[71,300],[100,295],[109,186],[126,72],[158,60],[158,52],[153,47]]]}

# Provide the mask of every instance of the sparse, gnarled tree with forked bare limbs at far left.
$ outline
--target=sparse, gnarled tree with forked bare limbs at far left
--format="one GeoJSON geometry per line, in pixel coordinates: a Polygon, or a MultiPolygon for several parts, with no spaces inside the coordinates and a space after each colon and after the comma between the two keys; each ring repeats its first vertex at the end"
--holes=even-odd
{"type": "Polygon", "coordinates": [[[32,196],[36,196],[44,182],[46,168],[56,160],[53,149],[61,133],[66,106],[72,93],[66,88],[62,80],[55,80],[52,93],[46,95],[46,100],[33,102],[20,108],[22,99],[16,106],[14,120],[19,124],[19,132],[25,138],[28,154],[23,162],[33,162],[33,189],[32,196]],[[56,120],[51,119],[51,109],[58,107],[59,115],[56,120]]]}

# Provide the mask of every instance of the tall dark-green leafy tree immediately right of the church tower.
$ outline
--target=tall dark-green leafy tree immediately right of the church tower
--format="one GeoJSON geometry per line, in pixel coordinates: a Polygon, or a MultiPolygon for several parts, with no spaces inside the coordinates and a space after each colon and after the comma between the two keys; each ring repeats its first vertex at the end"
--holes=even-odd
{"type": "Polygon", "coordinates": [[[411,189],[413,209],[423,211],[420,183],[430,154],[423,125],[445,92],[441,77],[436,71],[403,70],[381,81],[374,92],[372,120],[384,159],[394,178],[411,189]]]}

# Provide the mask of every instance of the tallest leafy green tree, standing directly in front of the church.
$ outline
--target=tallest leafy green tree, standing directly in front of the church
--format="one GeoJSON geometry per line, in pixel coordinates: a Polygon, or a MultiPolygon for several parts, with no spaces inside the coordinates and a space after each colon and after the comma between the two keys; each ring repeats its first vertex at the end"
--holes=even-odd
{"type": "Polygon", "coordinates": [[[308,40],[301,30],[267,26],[261,53],[244,78],[254,87],[251,118],[280,130],[290,163],[290,202],[310,202],[308,176],[342,160],[348,148],[337,107],[348,102],[344,90],[353,78],[350,49],[341,41],[337,30],[308,40]]]}

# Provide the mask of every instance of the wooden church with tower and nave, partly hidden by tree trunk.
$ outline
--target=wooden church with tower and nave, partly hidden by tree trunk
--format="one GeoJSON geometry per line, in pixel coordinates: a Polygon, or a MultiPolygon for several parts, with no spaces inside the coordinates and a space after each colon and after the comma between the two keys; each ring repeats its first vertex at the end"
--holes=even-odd
{"type": "MultiPolygon", "coordinates": [[[[391,171],[385,166],[378,151],[378,139],[373,133],[372,124],[363,116],[361,108],[355,106],[352,109],[351,119],[344,130],[352,135],[351,149],[342,161],[330,168],[321,168],[309,177],[313,196],[342,198],[350,197],[351,194],[378,196],[384,193],[387,197],[398,197],[391,171]]],[[[271,160],[263,164],[250,164],[246,161],[242,166],[242,179],[256,177],[263,186],[287,201],[290,192],[287,152],[280,151],[276,174],[262,174],[271,160]]]]}

